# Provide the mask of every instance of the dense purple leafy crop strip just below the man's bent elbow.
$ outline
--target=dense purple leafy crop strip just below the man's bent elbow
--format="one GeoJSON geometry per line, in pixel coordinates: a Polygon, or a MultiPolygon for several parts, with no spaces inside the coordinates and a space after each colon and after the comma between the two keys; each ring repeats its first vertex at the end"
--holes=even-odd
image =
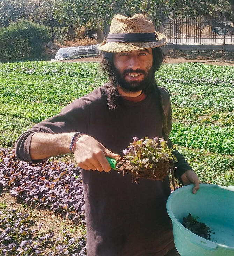
{"type": "Polygon", "coordinates": [[[61,211],[73,220],[84,218],[79,167],[62,161],[22,162],[15,158],[14,150],[3,148],[0,148],[0,156],[0,190],[11,189],[10,194],[28,206],[61,211]]]}

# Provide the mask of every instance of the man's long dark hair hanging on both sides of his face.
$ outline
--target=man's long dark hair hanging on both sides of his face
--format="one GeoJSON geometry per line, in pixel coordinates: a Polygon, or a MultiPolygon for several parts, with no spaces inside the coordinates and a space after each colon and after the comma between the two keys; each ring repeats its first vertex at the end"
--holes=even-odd
{"type": "MultiPolygon", "coordinates": [[[[165,61],[165,55],[162,52],[160,47],[152,48],[153,54],[153,65],[152,65],[152,80],[145,86],[143,93],[149,94],[155,92],[158,97],[160,110],[162,114],[163,129],[162,135],[165,140],[168,140],[168,127],[167,127],[167,117],[164,112],[163,100],[160,88],[155,80],[155,73],[158,71],[165,61]]],[[[118,107],[118,97],[119,93],[117,90],[117,79],[114,73],[114,53],[101,52],[101,62],[100,62],[100,71],[109,76],[109,83],[105,86],[105,92],[107,93],[107,103],[109,109],[116,109],[118,107]]]]}

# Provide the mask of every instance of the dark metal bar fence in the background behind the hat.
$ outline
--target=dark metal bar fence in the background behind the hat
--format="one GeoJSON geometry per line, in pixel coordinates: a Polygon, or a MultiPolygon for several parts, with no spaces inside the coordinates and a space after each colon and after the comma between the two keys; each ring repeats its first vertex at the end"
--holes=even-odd
{"type": "MultiPolygon", "coordinates": [[[[228,22],[224,17],[215,20],[219,23],[228,22]]],[[[110,27],[105,26],[103,29],[103,38],[107,39],[110,27]]],[[[169,44],[234,44],[234,33],[228,31],[225,35],[218,35],[212,29],[209,22],[203,18],[174,18],[164,21],[161,25],[155,25],[155,31],[167,36],[169,44]]]]}

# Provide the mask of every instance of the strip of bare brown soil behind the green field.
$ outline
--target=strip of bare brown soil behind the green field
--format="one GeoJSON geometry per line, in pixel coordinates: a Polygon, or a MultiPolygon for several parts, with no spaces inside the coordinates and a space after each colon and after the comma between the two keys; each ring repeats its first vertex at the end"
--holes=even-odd
{"type": "MultiPolygon", "coordinates": [[[[169,51],[165,54],[166,63],[188,63],[200,62],[211,65],[230,65],[234,66],[234,52],[215,52],[215,51],[197,51],[182,52],[169,51]]],[[[63,60],[63,62],[100,62],[98,56],[84,57],[74,60],[63,60]]]]}

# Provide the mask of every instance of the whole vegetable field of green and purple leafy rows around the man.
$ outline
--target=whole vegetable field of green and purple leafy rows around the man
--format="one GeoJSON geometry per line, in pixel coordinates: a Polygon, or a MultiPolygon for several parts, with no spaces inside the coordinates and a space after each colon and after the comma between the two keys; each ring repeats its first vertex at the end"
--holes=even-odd
{"type": "MultiPolygon", "coordinates": [[[[72,156],[52,157],[45,164],[32,166],[16,161],[11,149],[22,132],[58,114],[68,103],[106,81],[107,78],[98,73],[97,63],[0,63],[2,193],[10,191],[27,209],[51,209],[51,215],[53,211],[60,212],[81,227],[82,180],[74,178],[79,176],[79,168],[67,162],[72,156]],[[61,191],[64,191],[62,195],[61,191]]],[[[178,150],[202,182],[234,185],[234,67],[165,64],[156,73],[156,81],[171,94],[171,141],[178,144],[178,150]]],[[[6,233],[0,235],[1,255],[75,256],[85,253],[82,249],[84,227],[82,236],[76,240],[64,229],[61,237],[65,242],[56,242],[51,232],[42,233],[38,227],[30,229],[33,225],[30,216],[21,215],[18,210],[8,213],[1,197],[0,233],[6,233]],[[13,230],[13,221],[23,224],[13,230]],[[46,247],[51,249],[45,252],[46,247]],[[74,247],[78,249],[74,251],[74,247]]]]}

